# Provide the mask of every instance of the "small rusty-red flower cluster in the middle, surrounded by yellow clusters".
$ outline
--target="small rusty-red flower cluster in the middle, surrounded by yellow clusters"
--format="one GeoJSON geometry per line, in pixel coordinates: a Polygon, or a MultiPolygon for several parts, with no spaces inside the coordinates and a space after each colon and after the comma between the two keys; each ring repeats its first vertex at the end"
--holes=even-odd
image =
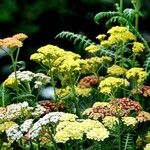
{"type": "Polygon", "coordinates": [[[90,87],[97,85],[98,82],[99,82],[99,78],[97,76],[95,75],[86,76],[79,81],[78,87],[90,88],[90,87]]]}

